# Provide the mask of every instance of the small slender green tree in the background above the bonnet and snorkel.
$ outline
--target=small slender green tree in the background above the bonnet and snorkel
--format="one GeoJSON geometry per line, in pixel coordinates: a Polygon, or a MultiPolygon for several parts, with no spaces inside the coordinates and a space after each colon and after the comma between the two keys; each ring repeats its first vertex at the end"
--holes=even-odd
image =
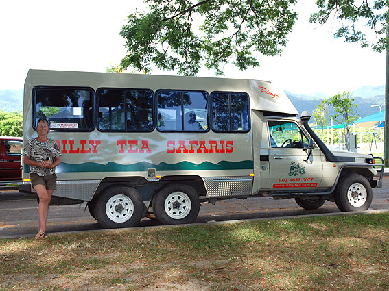
{"type": "Polygon", "coordinates": [[[331,114],[331,117],[343,125],[345,134],[349,134],[351,125],[358,119],[358,114],[355,112],[358,105],[354,104],[353,101],[354,99],[350,98],[350,92],[336,94],[328,100],[328,104],[335,110],[335,114],[331,114]]]}

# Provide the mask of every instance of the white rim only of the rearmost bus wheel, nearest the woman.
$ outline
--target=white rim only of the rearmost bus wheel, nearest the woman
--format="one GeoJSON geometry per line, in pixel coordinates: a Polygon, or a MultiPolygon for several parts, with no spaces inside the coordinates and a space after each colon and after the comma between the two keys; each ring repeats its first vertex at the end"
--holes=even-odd
{"type": "Polygon", "coordinates": [[[134,203],[130,197],[117,194],[107,201],[106,214],[114,223],[124,223],[134,214],[134,203]]]}

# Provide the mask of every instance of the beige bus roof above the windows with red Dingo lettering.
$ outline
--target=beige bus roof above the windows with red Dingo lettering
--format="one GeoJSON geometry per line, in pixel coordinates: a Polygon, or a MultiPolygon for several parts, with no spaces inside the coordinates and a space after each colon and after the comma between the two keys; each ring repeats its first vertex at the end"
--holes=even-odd
{"type": "Polygon", "coordinates": [[[91,73],[78,71],[29,70],[25,80],[25,92],[34,86],[77,86],[98,88],[144,88],[246,92],[250,96],[252,110],[298,114],[296,107],[283,90],[270,81],[228,79],[220,77],[185,77],[169,75],[142,75],[126,73],[91,73]]]}

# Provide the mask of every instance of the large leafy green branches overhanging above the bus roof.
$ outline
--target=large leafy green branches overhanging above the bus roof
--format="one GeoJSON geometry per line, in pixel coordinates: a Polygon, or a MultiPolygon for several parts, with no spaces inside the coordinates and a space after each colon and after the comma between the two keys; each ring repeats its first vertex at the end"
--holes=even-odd
{"type": "Polygon", "coordinates": [[[252,51],[279,55],[297,18],[290,8],[296,0],[145,3],[149,11],[130,14],[120,35],[127,48],[121,66],[147,73],[151,64],[182,75],[196,75],[203,65],[222,75],[222,66],[231,60],[241,70],[259,66],[252,51]]]}

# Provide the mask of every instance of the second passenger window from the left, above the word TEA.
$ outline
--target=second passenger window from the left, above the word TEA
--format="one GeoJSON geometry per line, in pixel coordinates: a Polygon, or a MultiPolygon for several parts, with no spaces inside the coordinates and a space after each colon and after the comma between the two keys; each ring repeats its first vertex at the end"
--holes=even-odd
{"type": "Polygon", "coordinates": [[[153,94],[143,89],[99,88],[99,129],[152,131],[153,94]]]}

